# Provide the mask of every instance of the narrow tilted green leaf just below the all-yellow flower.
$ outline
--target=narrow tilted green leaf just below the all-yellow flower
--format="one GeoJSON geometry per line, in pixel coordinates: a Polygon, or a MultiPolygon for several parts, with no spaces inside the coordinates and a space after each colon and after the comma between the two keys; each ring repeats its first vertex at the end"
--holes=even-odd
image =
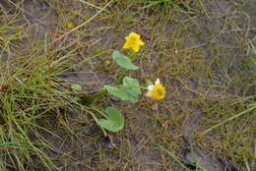
{"type": "Polygon", "coordinates": [[[138,69],[137,66],[135,66],[135,65],[133,65],[133,64],[131,63],[131,60],[130,60],[127,56],[121,54],[121,53],[120,53],[119,51],[117,51],[117,50],[113,51],[113,53],[112,53],[112,59],[113,59],[113,61],[114,61],[116,64],[118,64],[120,67],[125,68],[125,69],[127,69],[127,70],[137,70],[137,69],[138,69]]]}

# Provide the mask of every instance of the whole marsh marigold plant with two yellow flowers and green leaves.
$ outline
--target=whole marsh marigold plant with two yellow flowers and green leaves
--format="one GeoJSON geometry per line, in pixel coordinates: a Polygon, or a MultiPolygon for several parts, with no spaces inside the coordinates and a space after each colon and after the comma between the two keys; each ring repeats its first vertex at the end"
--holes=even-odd
{"type": "MultiPolygon", "coordinates": [[[[146,96],[148,97],[154,99],[162,99],[165,97],[165,87],[160,84],[159,79],[157,79],[155,85],[149,81],[147,83],[149,86],[141,86],[139,80],[125,76],[127,71],[139,69],[139,67],[134,65],[132,62],[136,59],[137,52],[140,50],[140,47],[145,44],[141,40],[140,35],[135,32],[130,32],[128,36],[125,37],[125,40],[123,48],[130,50],[127,53],[127,56],[118,50],[114,50],[111,55],[113,62],[121,68],[117,74],[114,84],[103,85],[103,89],[88,97],[88,103],[96,101],[96,99],[99,99],[106,93],[109,93],[121,100],[135,103],[139,101],[144,89],[147,89],[146,96]]],[[[109,65],[110,63],[110,61],[105,62],[106,65],[109,65]]],[[[73,85],[73,88],[77,90],[79,86],[73,85]]],[[[102,115],[102,118],[96,119],[96,123],[102,129],[105,136],[105,131],[119,132],[124,128],[125,119],[118,109],[109,106],[104,111],[99,111],[98,113],[102,115]]]]}

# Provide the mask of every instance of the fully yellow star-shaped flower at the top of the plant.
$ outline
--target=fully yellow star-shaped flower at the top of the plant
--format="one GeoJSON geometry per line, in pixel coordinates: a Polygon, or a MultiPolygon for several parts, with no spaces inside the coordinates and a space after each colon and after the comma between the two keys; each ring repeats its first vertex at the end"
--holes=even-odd
{"type": "Polygon", "coordinates": [[[132,49],[134,52],[138,52],[140,46],[145,43],[141,40],[141,35],[135,32],[130,32],[128,36],[125,37],[125,43],[123,45],[124,49],[132,49]]]}

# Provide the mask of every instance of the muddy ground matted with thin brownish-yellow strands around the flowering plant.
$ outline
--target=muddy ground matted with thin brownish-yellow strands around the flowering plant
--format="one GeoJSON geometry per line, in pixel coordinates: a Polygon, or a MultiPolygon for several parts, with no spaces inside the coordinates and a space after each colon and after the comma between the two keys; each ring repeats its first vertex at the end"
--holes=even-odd
{"type": "MultiPolygon", "coordinates": [[[[107,1],[91,3],[102,7],[107,1]]],[[[7,2],[0,4],[6,15],[13,14],[17,6],[23,9],[18,24],[24,26],[25,33],[30,36],[20,40],[18,49],[21,51],[33,49],[34,44],[41,45],[41,42],[48,43],[49,47],[73,43],[70,50],[76,48],[74,67],[58,77],[67,85],[79,84],[86,92],[93,93],[101,85],[111,84],[116,76],[116,66],[106,65],[104,61],[110,59],[111,49],[122,46],[123,37],[129,31],[142,34],[147,43],[136,60],[140,71],[129,75],[141,81],[160,78],[166,85],[167,96],[162,101],[143,98],[131,104],[106,96],[96,103],[102,108],[109,104],[118,107],[125,114],[125,129],[120,133],[109,133],[108,137],[103,136],[90,116],[75,107],[73,111],[60,109],[60,114],[65,116],[61,121],[57,115],[45,115],[39,123],[55,135],[40,131],[44,141],[51,146],[44,152],[61,170],[185,170],[158,145],[180,160],[197,160],[209,171],[222,171],[224,167],[232,171],[246,170],[242,156],[248,157],[251,171],[256,169],[252,165],[255,156],[250,154],[250,149],[241,147],[244,143],[240,144],[240,150],[246,150],[248,154],[242,155],[240,150],[234,154],[231,141],[223,136],[224,128],[198,137],[223,117],[222,114],[209,115],[210,108],[217,107],[222,112],[229,104],[228,99],[255,94],[255,77],[250,75],[255,72],[255,66],[247,65],[252,54],[246,44],[248,39],[255,44],[255,0],[202,0],[204,8],[198,3],[190,4],[194,11],[180,5],[184,13],[164,10],[161,6],[143,10],[143,4],[118,1],[106,8],[108,12],[100,13],[74,31],[70,30],[90,20],[99,9],[75,0],[27,0],[17,2],[17,6],[7,2]],[[74,26],[69,28],[70,23],[74,26]],[[45,36],[49,37],[47,41],[44,41],[45,36]],[[83,62],[96,54],[98,57],[83,62]],[[239,80],[235,80],[236,77],[239,80]],[[220,101],[223,103],[219,104],[220,101]],[[219,106],[215,106],[216,103],[219,106]],[[189,150],[190,145],[194,146],[194,152],[189,150]]],[[[2,60],[8,58],[12,58],[12,54],[3,51],[2,60]]],[[[234,141],[253,142],[251,139],[256,133],[251,131],[255,131],[256,116],[251,115],[243,121],[254,129],[250,134],[244,131],[243,136],[234,141]]],[[[242,127],[243,123],[235,124],[242,127]]],[[[230,127],[230,132],[236,128],[230,127]]],[[[236,142],[234,145],[239,148],[236,142]]],[[[196,170],[191,165],[187,167],[196,170]]],[[[46,170],[36,157],[28,169],[46,170]]]]}

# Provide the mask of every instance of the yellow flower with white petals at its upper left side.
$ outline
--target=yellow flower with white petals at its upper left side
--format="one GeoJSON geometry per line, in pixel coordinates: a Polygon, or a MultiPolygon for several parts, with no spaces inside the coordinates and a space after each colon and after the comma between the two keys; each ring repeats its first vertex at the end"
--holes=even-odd
{"type": "Polygon", "coordinates": [[[155,82],[155,85],[149,85],[148,86],[148,92],[146,93],[146,96],[152,97],[155,99],[161,99],[164,98],[166,94],[165,87],[160,84],[160,80],[157,79],[155,82]]]}

